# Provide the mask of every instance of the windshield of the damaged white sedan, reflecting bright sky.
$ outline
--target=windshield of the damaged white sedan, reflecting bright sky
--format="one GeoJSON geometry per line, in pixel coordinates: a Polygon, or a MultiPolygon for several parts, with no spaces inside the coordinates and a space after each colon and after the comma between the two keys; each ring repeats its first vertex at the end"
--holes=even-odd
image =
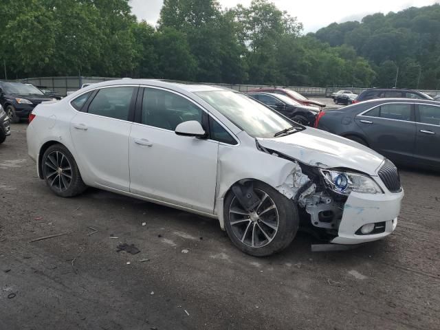
{"type": "Polygon", "coordinates": [[[252,137],[274,137],[294,125],[263,104],[234,91],[199,91],[195,94],[252,137]]]}

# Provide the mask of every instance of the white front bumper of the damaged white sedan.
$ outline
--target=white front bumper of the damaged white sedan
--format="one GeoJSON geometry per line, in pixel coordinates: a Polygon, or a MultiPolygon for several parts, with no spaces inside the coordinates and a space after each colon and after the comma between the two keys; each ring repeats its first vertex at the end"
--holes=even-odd
{"type": "MultiPolygon", "coordinates": [[[[332,239],[331,243],[359,244],[388,236],[397,226],[397,217],[403,198],[403,190],[395,194],[380,195],[351,192],[344,205],[338,236],[332,239]],[[384,223],[385,228],[383,232],[377,234],[360,234],[360,228],[367,223],[384,223]]],[[[383,227],[382,224],[381,227],[383,227]]]]}

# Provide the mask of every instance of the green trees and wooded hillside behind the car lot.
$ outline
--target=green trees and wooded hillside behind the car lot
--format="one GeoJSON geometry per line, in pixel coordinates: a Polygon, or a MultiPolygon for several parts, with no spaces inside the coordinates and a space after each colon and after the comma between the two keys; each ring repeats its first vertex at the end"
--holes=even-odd
{"type": "MultiPolygon", "coordinates": [[[[212,83],[440,88],[440,5],[302,35],[270,0],[164,0],[157,26],[129,0],[3,0],[8,78],[132,76],[212,83]]],[[[1,70],[3,71],[3,70],[1,70]]],[[[1,75],[1,74],[0,74],[1,75]]]]}

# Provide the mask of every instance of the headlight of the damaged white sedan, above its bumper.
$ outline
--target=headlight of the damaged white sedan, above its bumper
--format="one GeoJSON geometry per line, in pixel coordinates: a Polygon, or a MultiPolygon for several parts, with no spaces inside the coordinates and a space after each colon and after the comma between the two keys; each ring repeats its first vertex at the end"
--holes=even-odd
{"type": "Polygon", "coordinates": [[[350,192],[362,194],[382,194],[383,191],[368,175],[360,173],[342,172],[340,170],[320,170],[327,185],[334,192],[349,195],[350,192]]]}

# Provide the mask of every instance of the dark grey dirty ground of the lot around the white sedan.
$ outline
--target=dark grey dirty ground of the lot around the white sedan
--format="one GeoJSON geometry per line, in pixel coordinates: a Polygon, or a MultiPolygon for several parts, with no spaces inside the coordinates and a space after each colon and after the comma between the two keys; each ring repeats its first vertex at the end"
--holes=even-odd
{"type": "Polygon", "coordinates": [[[55,197],[25,128],[0,145],[0,329],[440,327],[440,174],[401,172],[401,217],[382,241],[313,253],[299,234],[257,259],[212,219],[96,189],[55,197]]]}

